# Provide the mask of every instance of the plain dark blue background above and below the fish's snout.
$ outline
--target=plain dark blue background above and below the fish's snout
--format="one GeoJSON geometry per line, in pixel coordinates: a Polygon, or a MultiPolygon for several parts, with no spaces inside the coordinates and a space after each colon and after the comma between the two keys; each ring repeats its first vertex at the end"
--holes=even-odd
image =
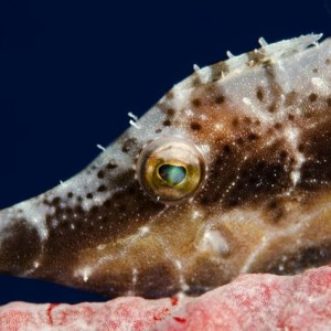
{"type": "MultiPolygon", "coordinates": [[[[324,1],[8,1],[0,4],[0,209],[83,169],[200,66],[310,32],[324,1]]],[[[329,4],[331,7],[331,3],[329,4]]],[[[104,300],[0,277],[0,303],[104,300]]]]}

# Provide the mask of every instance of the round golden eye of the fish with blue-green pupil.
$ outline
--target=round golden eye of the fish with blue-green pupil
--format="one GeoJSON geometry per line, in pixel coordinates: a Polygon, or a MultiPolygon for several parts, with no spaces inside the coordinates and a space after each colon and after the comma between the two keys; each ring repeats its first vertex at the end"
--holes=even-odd
{"type": "Polygon", "coordinates": [[[137,175],[143,190],[166,204],[185,201],[196,193],[205,174],[202,153],[181,138],[160,138],[143,148],[137,175]]]}

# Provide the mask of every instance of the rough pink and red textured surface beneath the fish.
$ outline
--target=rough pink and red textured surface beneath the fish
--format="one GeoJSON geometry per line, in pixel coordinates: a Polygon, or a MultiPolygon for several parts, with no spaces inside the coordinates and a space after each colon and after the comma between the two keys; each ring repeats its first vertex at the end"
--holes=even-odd
{"type": "Polygon", "coordinates": [[[331,266],[244,275],[199,298],[0,307],[0,330],[331,330],[331,266]]]}

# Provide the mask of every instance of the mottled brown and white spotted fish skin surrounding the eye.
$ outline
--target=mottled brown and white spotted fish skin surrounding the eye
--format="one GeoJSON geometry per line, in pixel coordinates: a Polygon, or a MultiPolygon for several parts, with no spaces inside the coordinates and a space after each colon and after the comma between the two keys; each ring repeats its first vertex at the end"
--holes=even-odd
{"type": "Polygon", "coordinates": [[[81,173],[1,211],[0,271],[159,298],[330,261],[331,41],[320,36],[196,68],[81,173]],[[189,200],[164,204],[139,183],[138,157],[161,138],[203,156],[189,200]]]}

